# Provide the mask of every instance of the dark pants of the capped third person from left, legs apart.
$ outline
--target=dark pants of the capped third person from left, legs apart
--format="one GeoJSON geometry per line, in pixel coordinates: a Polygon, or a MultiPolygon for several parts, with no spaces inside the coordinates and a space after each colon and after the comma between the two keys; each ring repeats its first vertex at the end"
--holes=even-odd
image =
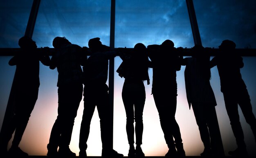
{"type": "Polygon", "coordinates": [[[89,137],[90,123],[96,106],[100,118],[102,149],[112,149],[112,144],[110,144],[112,142],[110,140],[112,133],[110,130],[111,109],[108,85],[105,83],[88,83],[84,87],[83,95],[84,110],[80,128],[79,149],[86,150],[88,147],[86,142],[89,137]]]}

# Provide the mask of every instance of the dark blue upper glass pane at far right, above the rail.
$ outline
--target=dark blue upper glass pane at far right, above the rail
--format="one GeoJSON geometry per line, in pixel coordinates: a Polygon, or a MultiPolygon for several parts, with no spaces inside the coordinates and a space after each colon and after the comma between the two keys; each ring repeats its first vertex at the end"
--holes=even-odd
{"type": "Polygon", "coordinates": [[[236,48],[256,48],[256,1],[193,0],[204,47],[218,48],[223,40],[236,48]]]}

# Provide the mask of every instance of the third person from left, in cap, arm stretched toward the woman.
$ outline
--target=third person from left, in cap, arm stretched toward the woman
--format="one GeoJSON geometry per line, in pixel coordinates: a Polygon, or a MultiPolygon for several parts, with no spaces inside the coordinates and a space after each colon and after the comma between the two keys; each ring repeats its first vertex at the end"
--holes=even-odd
{"type": "Polygon", "coordinates": [[[79,137],[79,157],[85,157],[87,149],[87,140],[90,133],[90,123],[97,106],[101,127],[101,156],[120,157],[123,154],[117,153],[112,149],[112,140],[110,140],[111,122],[110,122],[110,102],[108,94],[108,60],[117,56],[117,51],[110,50],[110,47],[102,45],[100,38],[92,38],[88,42],[91,54],[88,57],[87,64],[83,67],[85,74],[84,80],[84,110],[81,122],[79,137]],[[111,144],[110,144],[111,143],[111,144]]]}

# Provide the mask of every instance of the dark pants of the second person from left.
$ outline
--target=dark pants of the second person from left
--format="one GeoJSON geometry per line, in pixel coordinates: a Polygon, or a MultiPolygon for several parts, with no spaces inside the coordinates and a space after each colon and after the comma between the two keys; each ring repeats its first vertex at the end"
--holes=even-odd
{"type": "Polygon", "coordinates": [[[58,116],[52,127],[49,149],[68,148],[71,141],[74,120],[82,100],[83,84],[58,87],[58,116]]]}

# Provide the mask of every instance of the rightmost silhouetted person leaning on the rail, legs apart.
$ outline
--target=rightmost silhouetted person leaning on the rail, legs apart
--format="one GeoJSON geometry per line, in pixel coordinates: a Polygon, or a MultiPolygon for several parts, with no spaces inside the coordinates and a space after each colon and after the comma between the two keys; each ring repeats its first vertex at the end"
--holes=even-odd
{"type": "Polygon", "coordinates": [[[224,96],[230,125],[236,138],[238,148],[229,151],[231,156],[247,156],[243,129],[241,127],[238,105],[246,122],[251,126],[256,142],[256,120],[252,111],[252,104],[240,68],[243,68],[243,58],[235,53],[236,44],[231,40],[222,41],[219,54],[211,60],[211,67],[217,65],[220,76],[220,87],[224,96]]]}

